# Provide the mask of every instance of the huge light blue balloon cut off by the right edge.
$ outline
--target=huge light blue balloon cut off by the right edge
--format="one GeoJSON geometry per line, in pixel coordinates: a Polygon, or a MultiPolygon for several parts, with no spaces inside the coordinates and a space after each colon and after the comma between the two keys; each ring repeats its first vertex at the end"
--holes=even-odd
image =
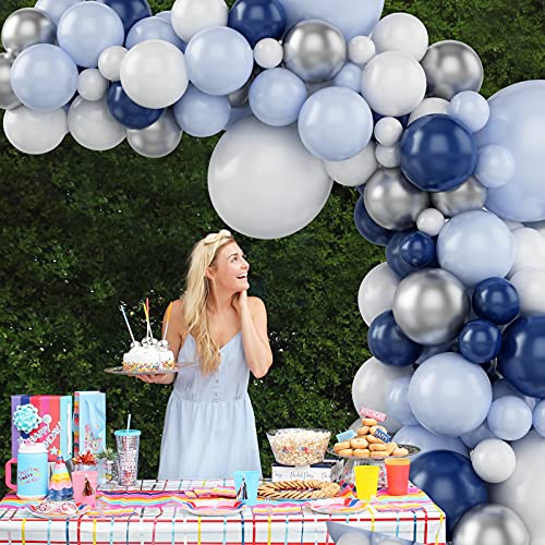
{"type": "Polygon", "coordinates": [[[491,119],[476,133],[479,147],[495,144],[514,159],[509,183],[488,191],[486,208],[513,221],[545,219],[545,80],[511,85],[488,99],[491,119]]]}

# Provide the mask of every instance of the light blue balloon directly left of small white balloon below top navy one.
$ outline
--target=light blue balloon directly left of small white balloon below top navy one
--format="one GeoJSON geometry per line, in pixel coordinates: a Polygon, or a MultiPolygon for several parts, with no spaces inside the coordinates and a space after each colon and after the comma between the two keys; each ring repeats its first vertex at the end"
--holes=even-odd
{"type": "Polygon", "coordinates": [[[195,34],[185,49],[191,83],[208,95],[229,95],[252,74],[254,55],[242,34],[211,26],[195,34]]]}

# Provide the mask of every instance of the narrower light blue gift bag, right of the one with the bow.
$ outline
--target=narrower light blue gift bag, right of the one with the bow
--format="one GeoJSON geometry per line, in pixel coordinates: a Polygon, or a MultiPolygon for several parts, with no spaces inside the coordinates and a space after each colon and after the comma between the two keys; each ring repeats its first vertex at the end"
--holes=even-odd
{"type": "Polygon", "coordinates": [[[106,393],[74,392],[74,456],[106,447],[106,393]]]}

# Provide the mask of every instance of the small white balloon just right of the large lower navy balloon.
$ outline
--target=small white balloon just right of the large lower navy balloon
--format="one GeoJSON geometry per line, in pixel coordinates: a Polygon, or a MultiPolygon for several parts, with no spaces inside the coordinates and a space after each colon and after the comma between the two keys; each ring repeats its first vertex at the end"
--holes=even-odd
{"type": "Polygon", "coordinates": [[[514,471],[513,449],[501,439],[485,439],[470,453],[475,473],[486,483],[502,483],[514,471]]]}

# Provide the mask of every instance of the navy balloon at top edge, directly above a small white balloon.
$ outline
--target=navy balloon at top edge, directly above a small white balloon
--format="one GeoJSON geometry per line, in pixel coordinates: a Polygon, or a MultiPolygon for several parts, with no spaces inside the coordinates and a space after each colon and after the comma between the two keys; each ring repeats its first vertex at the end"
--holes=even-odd
{"type": "Polygon", "coordinates": [[[263,38],[281,38],[286,21],[286,10],[278,0],[237,0],[227,24],[254,48],[263,38]]]}

